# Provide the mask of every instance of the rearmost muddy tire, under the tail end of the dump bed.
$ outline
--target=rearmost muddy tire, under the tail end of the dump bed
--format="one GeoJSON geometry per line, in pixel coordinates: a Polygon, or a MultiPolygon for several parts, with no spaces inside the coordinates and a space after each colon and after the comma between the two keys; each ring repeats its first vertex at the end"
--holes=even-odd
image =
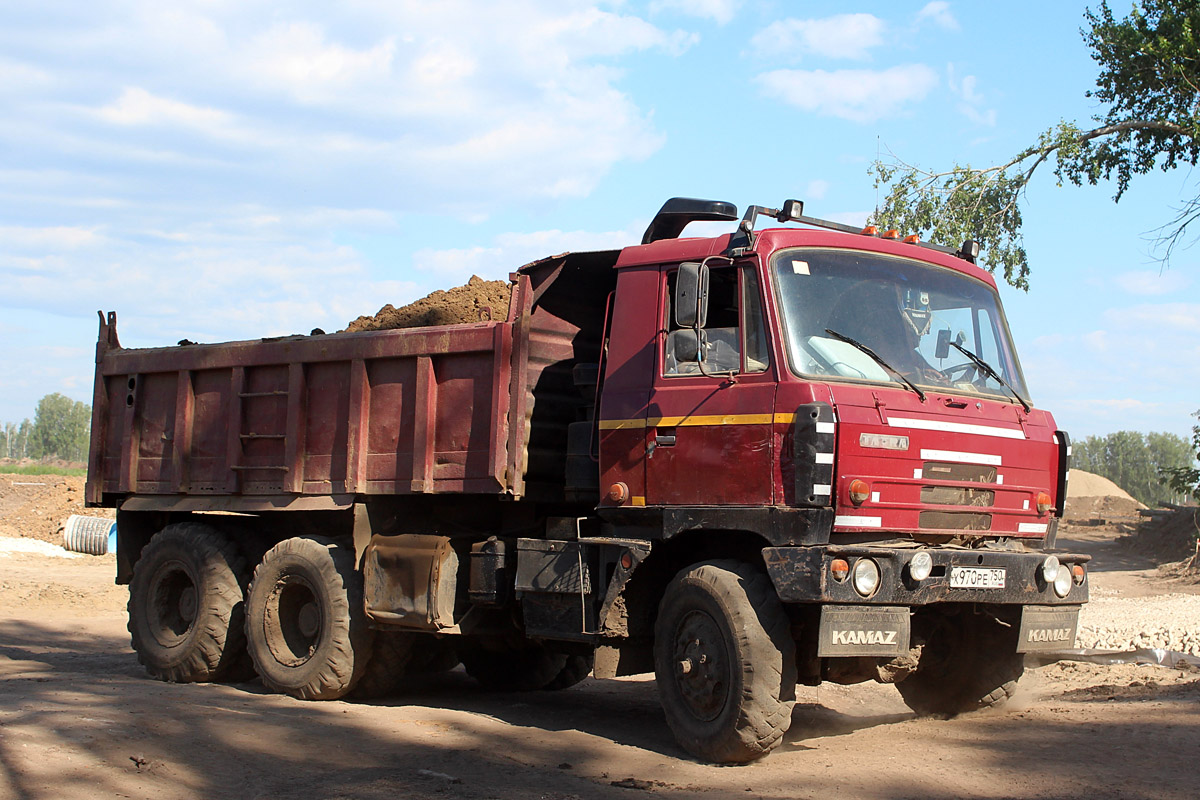
{"type": "Polygon", "coordinates": [[[209,525],[155,534],[130,582],[130,637],[146,672],[180,684],[244,678],[247,573],[238,548],[209,525]]]}

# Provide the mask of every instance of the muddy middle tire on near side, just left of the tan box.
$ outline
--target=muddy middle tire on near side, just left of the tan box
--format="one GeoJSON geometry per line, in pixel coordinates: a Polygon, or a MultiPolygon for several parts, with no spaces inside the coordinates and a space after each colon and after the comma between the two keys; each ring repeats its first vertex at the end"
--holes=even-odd
{"type": "Polygon", "coordinates": [[[343,697],[373,638],[353,551],[298,536],[266,552],[246,595],[247,648],[263,685],[302,700],[343,697]]]}

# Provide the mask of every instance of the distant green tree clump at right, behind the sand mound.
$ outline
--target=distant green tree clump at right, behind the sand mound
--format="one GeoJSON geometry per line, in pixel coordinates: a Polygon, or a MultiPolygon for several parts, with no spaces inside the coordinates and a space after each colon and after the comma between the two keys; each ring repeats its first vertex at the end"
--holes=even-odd
{"type": "Polygon", "coordinates": [[[1164,470],[1192,463],[1188,440],[1174,433],[1117,431],[1087,437],[1072,447],[1070,465],[1109,479],[1146,505],[1182,499],[1163,477],[1164,470]]]}

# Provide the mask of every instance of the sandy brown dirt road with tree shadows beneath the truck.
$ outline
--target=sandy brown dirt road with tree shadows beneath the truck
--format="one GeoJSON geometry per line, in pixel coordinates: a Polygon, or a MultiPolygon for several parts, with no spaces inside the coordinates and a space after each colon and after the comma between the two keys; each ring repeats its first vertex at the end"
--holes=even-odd
{"type": "MultiPolygon", "coordinates": [[[[1094,590],[1194,594],[1086,536],[1094,590]]],[[[676,746],[643,679],[499,694],[456,670],[379,704],[154,681],[113,573],[110,555],[0,554],[0,798],[1200,796],[1195,674],[1058,663],[948,721],[889,686],[800,687],[778,751],[714,768],[676,746]]]]}

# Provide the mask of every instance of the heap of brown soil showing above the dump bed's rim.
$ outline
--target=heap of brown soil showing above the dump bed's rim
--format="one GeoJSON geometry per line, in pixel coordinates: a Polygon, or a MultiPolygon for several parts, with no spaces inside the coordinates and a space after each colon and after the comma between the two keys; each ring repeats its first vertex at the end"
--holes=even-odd
{"type": "Polygon", "coordinates": [[[464,285],[437,290],[400,308],[388,303],[374,317],[359,317],[342,333],[386,331],[395,327],[426,327],[428,325],[462,325],[509,317],[512,294],[505,281],[485,281],[470,276],[464,285]]]}

